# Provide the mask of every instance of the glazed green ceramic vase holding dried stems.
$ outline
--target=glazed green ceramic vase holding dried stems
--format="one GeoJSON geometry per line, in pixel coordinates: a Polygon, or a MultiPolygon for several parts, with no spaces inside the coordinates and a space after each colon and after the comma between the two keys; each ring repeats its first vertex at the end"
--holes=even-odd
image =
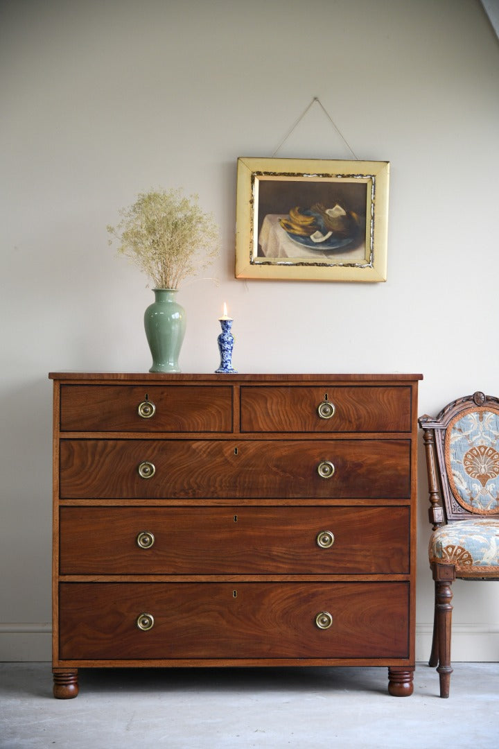
{"type": "Polygon", "coordinates": [[[175,300],[176,288],[153,288],[144,312],[147,343],[153,357],[149,372],[181,372],[179,354],[186,334],[186,311],[175,300]]]}

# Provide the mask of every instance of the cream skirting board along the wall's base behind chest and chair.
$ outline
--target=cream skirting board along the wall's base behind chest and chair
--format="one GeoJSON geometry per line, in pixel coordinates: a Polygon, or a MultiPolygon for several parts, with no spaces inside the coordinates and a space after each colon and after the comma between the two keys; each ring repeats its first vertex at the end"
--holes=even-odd
{"type": "MultiPolygon", "coordinates": [[[[416,661],[428,661],[432,624],[416,625],[416,661]]],[[[0,624],[0,661],[50,661],[52,627],[48,622],[0,624]]],[[[498,624],[456,624],[453,661],[499,661],[498,624]]]]}

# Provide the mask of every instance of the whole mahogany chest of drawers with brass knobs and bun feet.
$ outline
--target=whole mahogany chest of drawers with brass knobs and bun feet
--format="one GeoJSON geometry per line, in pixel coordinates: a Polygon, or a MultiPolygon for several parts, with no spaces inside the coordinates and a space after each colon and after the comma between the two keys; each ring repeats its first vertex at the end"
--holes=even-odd
{"type": "Polygon", "coordinates": [[[174,666],[411,694],[420,375],[49,376],[55,697],[174,666]]]}

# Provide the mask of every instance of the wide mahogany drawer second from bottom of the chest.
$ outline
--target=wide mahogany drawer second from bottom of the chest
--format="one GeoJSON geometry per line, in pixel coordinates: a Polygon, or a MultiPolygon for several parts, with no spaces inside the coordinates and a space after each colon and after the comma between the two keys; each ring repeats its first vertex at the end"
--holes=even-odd
{"type": "Polygon", "coordinates": [[[61,507],[61,574],[407,574],[408,507],[61,507]]]}

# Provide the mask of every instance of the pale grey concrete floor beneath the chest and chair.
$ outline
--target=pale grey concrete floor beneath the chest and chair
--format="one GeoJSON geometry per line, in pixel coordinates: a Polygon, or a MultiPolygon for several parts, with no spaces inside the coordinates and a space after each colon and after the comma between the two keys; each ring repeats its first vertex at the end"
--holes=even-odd
{"type": "Polygon", "coordinates": [[[52,698],[45,663],[0,664],[1,749],[489,749],[499,664],[454,664],[450,699],[418,664],[411,697],[385,668],[81,670],[52,698]]]}

